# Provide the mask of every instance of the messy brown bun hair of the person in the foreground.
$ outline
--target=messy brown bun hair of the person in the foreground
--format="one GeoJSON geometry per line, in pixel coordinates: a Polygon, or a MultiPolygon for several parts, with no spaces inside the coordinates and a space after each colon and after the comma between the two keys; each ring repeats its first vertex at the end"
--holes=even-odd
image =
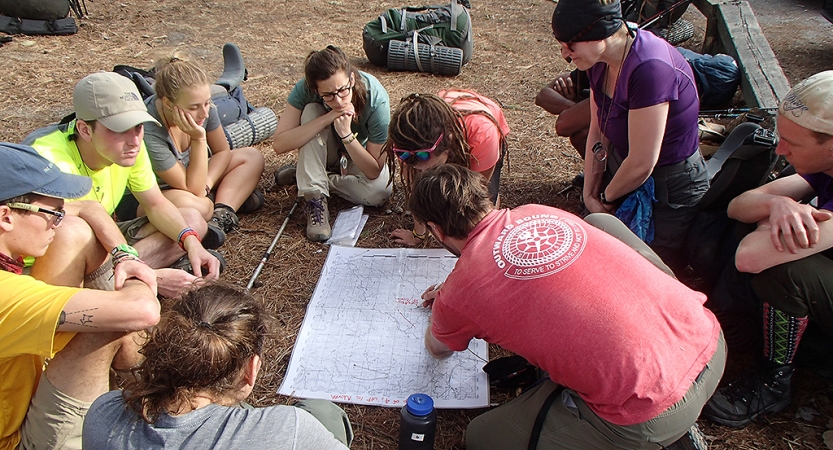
{"type": "Polygon", "coordinates": [[[215,283],[186,293],[150,332],[125,403],[153,423],[198,392],[236,392],[249,359],[263,351],[268,321],[260,303],[235,288],[215,283]]]}

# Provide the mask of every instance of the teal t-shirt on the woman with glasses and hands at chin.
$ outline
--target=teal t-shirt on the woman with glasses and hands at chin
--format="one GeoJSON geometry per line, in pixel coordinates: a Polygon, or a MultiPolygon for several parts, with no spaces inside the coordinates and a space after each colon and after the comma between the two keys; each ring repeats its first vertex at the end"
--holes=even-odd
{"type": "MultiPolygon", "coordinates": [[[[368,142],[384,144],[388,140],[388,125],[390,125],[388,92],[373,75],[359,71],[359,76],[367,88],[367,104],[359,115],[358,123],[352,122],[350,129],[354,133],[359,133],[357,139],[364,146],[367,146],[368,142]]],[[[286,101],[299,111],[303,111],[304,107],[310,103],[324,105],[324,100],[318,92],[307,87],[306,79],[301,79],[295,84],[286,101]]]]}

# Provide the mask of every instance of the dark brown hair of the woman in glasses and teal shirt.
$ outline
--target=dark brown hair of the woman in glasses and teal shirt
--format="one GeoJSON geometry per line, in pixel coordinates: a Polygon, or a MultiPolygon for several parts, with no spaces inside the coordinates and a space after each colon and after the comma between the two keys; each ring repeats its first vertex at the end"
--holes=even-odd
{"type": "MultiPolygon", "coordinates": [[[[304,78],[307,88],[318,92],[318,83],[338,72],[344,72],[348,77],[353,76],[353,107],[356,114],[361,115],[367,104],[367,88],[359,72],[353,68],[347,55],[334,45],[328,45],[323,50],[313,51],[304,61],[304,78]]],[[[358,117],[353,117],[358,120],[358,117]]]]}

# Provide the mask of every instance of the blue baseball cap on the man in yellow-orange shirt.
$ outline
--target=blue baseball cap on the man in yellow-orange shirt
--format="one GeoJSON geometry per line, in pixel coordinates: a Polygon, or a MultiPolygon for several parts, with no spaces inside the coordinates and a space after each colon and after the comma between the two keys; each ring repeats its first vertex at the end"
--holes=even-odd
{"type": "Polygon", "coordinates": [[[0,200],[24,194],[81,198],[90,192],[89,177],[61,172],[28,145],[0,142],[0,200]]]}

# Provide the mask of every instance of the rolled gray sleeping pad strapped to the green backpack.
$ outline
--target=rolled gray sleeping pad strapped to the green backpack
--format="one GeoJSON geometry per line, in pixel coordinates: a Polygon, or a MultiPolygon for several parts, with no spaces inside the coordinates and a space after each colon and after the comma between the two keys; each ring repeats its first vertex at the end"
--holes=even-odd
{"type": "Polygon", "coordinates": [[[462,67],[462,49],[428,44],[415,46],[413,41],[388,42],[388,70],[459,75],[462,67]]]}

